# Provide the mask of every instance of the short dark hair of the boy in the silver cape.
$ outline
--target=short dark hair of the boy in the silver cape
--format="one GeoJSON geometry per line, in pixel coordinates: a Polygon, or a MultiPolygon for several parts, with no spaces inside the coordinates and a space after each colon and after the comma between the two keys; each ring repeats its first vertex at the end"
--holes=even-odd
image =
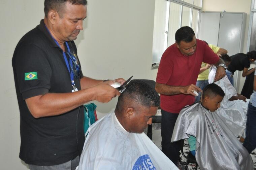
{"type": "Polygon", "coordinates": [[[205,96],[215,97],[217,95],[224,97],[225,93],[217,84],[211,83],[203,89],[202,98],[204,99],[205,96]]]}

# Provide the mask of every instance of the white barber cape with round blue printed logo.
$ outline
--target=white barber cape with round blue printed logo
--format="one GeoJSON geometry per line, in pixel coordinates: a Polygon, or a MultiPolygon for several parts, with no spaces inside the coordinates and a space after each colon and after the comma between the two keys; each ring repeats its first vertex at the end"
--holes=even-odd
{"type": "Polygon", "coordinates": [[[179,170],[145,133],[129,133],[110,113],[87,131],[78,170],[179,170]]]}

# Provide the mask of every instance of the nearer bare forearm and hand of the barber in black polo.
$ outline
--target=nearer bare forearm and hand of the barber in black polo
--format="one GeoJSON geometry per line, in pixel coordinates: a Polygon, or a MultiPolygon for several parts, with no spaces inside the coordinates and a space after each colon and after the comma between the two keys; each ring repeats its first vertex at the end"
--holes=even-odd
{"type": "Polygon", "coordinates": [[[120,93],[109,86],[110,82],[99,83],[97,86],[79,90],[74,93],[46,93],[26,99],[30,113],[35,117],[54,116],[66,113],[92,100],[105,103],[120,93]]]}

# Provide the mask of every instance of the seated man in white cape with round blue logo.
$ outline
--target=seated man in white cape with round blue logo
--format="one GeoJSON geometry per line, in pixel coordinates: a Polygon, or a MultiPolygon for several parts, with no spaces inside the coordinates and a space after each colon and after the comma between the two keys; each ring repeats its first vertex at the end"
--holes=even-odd
{"type": "Polygon", "coordinates": [[[148,84],[130,82],[115,111],[88,129],[78,170],[178,170],[143,133],[159,103],[158,93],[148,84]]]}

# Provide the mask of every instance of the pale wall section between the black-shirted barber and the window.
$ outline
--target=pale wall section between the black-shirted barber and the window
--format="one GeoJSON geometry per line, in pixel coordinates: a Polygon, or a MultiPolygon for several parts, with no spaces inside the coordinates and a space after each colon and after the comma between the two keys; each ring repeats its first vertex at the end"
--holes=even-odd
{"type": "MultiPolygon", "coordinates": [[[[154,0],[89,0],[85,30],[76,43],[83,73],[97,79],[156,79],[151,70],[154,0]]],[[[117,100],[97,104],[109,112],[117,100]]]]}

